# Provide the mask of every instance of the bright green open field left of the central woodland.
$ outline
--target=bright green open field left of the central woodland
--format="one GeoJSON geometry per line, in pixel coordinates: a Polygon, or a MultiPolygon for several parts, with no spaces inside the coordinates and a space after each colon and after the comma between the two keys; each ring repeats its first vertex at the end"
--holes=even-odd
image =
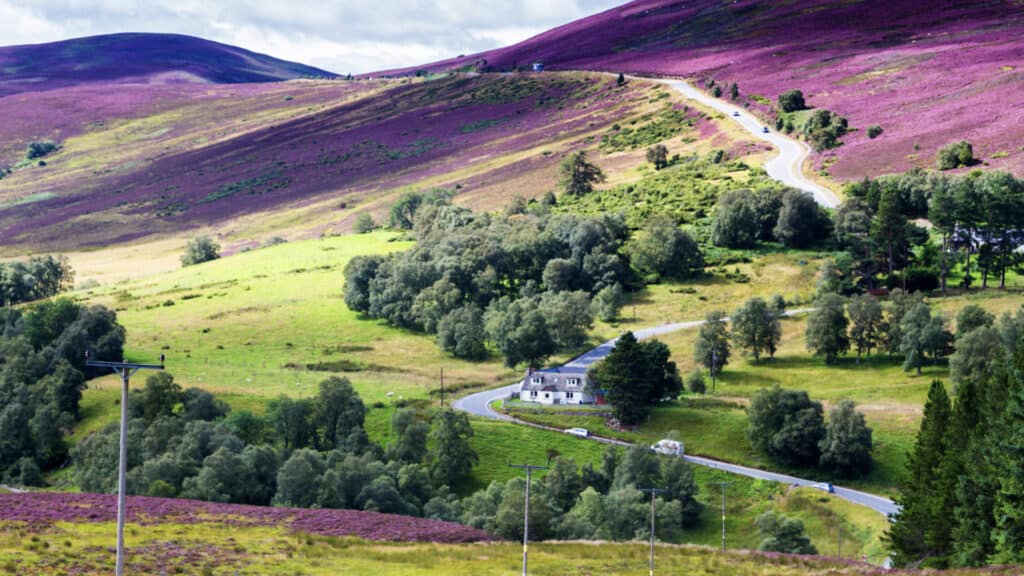
{"type": "Polygon", "coordinates": [[[450,385],[505,381],[510,372],[497,357],[447,358],[429,335],[361,320],[345,306],[342,271],[352,256],[410,245],[389,233],[293,242],[78,295],[117,310],[130,360],[166,354],[182,385],[232,404],[312,395],[328,372],[344,372],[367,403],[389,392],[425,398],[440,368],[450,385]]]}

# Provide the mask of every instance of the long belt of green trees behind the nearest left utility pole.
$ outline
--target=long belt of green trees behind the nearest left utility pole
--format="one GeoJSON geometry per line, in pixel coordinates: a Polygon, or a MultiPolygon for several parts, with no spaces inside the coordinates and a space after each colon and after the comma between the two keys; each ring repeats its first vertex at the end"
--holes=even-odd
{"type": "MultiPolygon", "coordinates": [[[[392,441],[372,443],[362,401],[338,377],[321,382],[315,398],[272,401],[261,416],[229,413],[210,393],[183,390],[161,372],[133,392],[129,408],[133,494],[425,516],[477,461],[468,418],[451,410],[396,411],[392,441]]],[[[114,491],[117,425],[86,439],[75,460],[83,490],[114,491]]]]}

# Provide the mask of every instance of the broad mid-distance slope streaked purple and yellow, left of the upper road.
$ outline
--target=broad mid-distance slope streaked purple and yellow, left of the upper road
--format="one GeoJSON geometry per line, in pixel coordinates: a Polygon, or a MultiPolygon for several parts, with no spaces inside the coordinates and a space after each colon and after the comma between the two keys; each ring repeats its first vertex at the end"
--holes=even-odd
{"type": "MultiPolygon", "coordinates": [[[[15,94],[0,98],[0,114],[16,119],[0,126],[0,167],[19,166],[0,179],[0,244],[67,250],[245,215],[264,230],[318,234],[353,209],[380,216],[374,203],[406,188],[452,188],[462,202],[502,206],[550,190],[565,152],[594,148],[617,122],[643,126],[681,110],[675,99],[595,74],[15,94]],[[19,160],[40,139],[61,148],[42,165],[19,160]]],[[[683,117],[665,137],[696,143],[679,138],[674,151],[710,146],[707,116],[689,108],[683,117]]],[[[600,161],[626,168],[642,155],[600,161]]]]}

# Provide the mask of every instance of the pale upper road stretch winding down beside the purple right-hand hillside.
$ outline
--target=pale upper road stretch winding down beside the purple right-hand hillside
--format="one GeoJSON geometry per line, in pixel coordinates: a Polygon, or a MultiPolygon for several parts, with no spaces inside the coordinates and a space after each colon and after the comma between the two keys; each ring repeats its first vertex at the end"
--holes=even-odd
{"type": "Polygon", "coordinates": [[[836,196],[835,192],[814,183],[804,175],[804,160],[811,153],[806,143],[771,129],[767,133],[764,132],[765,125],[748,110],[729,104],[722,98],[706,94],[694,88],[689,82],[684,80],[658,80],[658,82],[672,87],[689,99],[696,100],[726,114],[729,118],[738,122],[754,137],[769,142],[778,149],[778,156],[765,164],[765,170],[768,171],[769,176],[787,187],[813,194],[814,200],[826,208],[839,206],[839,197],[836,196]],[[738,114],[738,116],[735,114],[738,114]]]}

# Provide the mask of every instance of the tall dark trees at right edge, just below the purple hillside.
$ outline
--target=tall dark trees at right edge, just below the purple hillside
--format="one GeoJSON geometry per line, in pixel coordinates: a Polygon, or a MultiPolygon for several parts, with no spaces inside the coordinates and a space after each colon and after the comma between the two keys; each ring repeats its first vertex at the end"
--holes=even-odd
{"type": "Polygon", "coordinates": [[[1024,243],[1024,181],[1012,174],[911,170],[856,182],[847,195],[836,212],[835,241],[850,254],[848,273],[858,290],[874,287],[879,273],[889,287],[945,290],[956,264],[963,265],[964,288],[974,284],[974,272],[981,273],[983,288],[990,276],[1005,287],[1007,271],[1021,262],[1016,249],[1024,243]],[[939,245],[911,222],[915,218],[928,218],[939,245]]]}

